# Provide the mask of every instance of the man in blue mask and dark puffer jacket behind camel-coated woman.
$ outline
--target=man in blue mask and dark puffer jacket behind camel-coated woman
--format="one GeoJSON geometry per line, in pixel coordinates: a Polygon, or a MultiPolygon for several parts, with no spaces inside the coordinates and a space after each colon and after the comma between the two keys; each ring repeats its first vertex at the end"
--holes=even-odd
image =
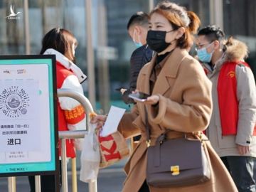
{"type": "Polygon", "coordinates": [[[129,18],[127,23],[127,31],[132,38],[136,50],[131,55],[130,63],[130,80],[129,89],[120,89],[122,92],[122,100],[126,103],[133,103],[134,100],[128,97],[129,93],[136,89],[137,77],[142,67],[149,63],[152,58],[153,51],[146,45],[146,35],[149,29],[149,16],[142,11],[137,12],[129,18]]]}

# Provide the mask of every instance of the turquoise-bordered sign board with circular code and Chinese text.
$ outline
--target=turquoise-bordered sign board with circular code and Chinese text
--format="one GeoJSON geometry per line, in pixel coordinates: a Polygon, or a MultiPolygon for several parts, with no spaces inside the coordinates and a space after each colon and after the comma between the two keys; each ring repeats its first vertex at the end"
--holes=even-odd
{"type": "Polygon", "coordinates": [[[55,55],[0,56],[0,176],[54,174],[55,55]]]}

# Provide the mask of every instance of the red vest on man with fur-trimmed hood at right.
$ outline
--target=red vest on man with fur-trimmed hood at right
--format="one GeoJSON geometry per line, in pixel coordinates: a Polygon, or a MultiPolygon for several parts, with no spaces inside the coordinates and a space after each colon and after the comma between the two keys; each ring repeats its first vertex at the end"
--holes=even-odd
{"type": "MultiPolygon", "coordinates": [[[[222,134],[236,135],[238,131],[238,97],[237,97],[237,80],[235,78],[235,67],[238,64],[245,65],[245,62],[225,62],[220,70],[218,77],[218,105],[220,110],[220,123],[222,134]]],[[[254,129],[253,135],[256,135],[254,129]]]]}

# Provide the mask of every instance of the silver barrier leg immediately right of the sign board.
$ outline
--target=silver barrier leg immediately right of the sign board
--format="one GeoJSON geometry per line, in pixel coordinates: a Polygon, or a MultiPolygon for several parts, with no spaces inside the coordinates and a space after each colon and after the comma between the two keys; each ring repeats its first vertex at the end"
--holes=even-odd
{"type": "Polygon", "coordinates": [[[68,192],[68,170],[65,140],[66,139],[61,139],[61,181],[63,192],[68,192]]]}

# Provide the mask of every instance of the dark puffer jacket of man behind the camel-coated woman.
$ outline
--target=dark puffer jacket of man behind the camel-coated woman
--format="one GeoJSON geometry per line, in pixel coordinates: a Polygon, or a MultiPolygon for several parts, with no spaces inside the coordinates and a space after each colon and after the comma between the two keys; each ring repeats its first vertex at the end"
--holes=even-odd
{"type": "Polygon", "coordinates": [[[134,100],[128,97],[129,93],[136,89],[137,78],[139,75],[139,71],[142,67],[149,63],[153,55],[153,51],[149,48],[149,46],[145,45],[140,48],[134,50],[131,55],[130,63],[130,80],[129,80],[129,89],[122,95],[122,100],[126,103],[134,103],[134,100]]]}

